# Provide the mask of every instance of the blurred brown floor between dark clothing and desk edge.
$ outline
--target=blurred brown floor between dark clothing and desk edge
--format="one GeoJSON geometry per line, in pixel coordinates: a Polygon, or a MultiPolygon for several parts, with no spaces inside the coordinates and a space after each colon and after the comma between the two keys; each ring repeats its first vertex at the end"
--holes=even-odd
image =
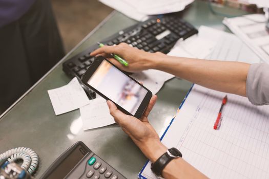
{"type": "Polygon", "coordinates": [[[113,9],[97,0],[51,0],[66,52],[91,32],[113,9]]]}

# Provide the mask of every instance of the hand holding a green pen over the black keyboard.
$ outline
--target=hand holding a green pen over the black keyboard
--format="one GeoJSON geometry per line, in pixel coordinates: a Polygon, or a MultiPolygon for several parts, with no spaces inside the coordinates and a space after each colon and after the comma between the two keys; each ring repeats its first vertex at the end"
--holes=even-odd
{"type": "Polygon", "coordinates": [[[154,67],[159,56],[164,54],[160,52],[149,53],[137,48],[130,47],[127,43],[119,43],[117,46],[104,46],[93,51],[91,56],[102,55],[107,57],[113,64],[123,71],[140,72],[154,67]],[[123,66],[117,60],[111,57],[111,53],[117,54],[125,59],[129,65],[123,66]]]}

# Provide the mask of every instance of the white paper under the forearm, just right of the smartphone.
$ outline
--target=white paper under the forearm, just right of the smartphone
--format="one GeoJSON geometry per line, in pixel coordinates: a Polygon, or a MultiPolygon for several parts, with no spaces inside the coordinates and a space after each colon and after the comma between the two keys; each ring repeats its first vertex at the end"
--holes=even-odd
{"type": "Polygon", "coordinates": [[[138,82],[141,82],[145,87],[150,89],[152,94],[157,94],[165,81],[175,77],[169,73],[152,69],[134,73],[131,76],[138,82]]]}

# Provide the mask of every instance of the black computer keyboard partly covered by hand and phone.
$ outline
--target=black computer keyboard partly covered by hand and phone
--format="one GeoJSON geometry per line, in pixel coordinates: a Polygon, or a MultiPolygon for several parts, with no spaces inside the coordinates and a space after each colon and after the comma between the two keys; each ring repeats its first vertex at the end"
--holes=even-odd
{"type": "MultiPolygon", "coordinates": [[[[197,29],[187,21],[175,16],[162,16],[153,17],[123,29],[104,40],[100,40],[100,42],[108,46],[126,42],[130,46],[146,52],[167,54],[178,39],[182,38],[184,40],[196,33],[198,33],[197,29]]],[[[96,43],[87,50],[68,59],[63,63],[64,72],[71,78],[77,77],[80,81],[81,76],[94,59],[90,56],[90,53],[97,48],[98,44],[96,43]]],[[[84,85],[82,87],[84,87],[89,98],[95,98],[95,93],[91,89],[84,85]]]]}

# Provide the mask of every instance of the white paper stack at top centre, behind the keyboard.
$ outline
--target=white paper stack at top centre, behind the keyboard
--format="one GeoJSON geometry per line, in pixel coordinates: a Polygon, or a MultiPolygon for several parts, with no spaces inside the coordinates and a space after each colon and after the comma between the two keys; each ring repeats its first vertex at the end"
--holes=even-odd
{"type": "Polygon", "coordinates": [[[107,6],[138,21],[144,21],[149,15],[182,11],[194,0],[99,0],[107,6]]]}

